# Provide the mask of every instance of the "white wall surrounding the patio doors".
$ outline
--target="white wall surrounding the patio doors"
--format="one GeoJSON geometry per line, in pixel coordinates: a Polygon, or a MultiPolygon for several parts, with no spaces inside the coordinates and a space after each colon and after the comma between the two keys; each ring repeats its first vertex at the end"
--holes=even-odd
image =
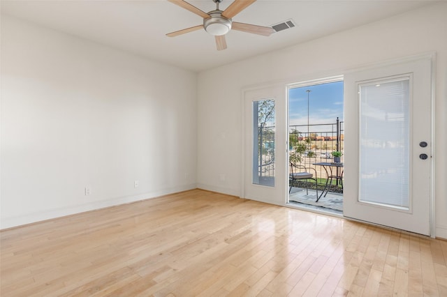
{"type": "Polygon", "coordinates": [[[350,68],[365,64],[436,51],[436,227],[437,236],[447,238],[446,15],[447,3],[441,3],[200,73],[199,188],[240,195],[241,90],[244,87],[283,79],[300,82],[342,75],[350,68]]]}

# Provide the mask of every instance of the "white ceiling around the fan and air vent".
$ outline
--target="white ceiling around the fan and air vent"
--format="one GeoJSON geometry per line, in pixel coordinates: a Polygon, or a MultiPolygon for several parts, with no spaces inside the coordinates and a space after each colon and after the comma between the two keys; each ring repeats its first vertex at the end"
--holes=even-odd
{"type": "MultiPolygon", "coordinates": [[[[224,10],[233,0],[223,0],[224,10]]],[[[166,33],[203,24],[203,19],[165,0],[98,1],[1,0],[1,13],[74,36],[193,71],[207,70],[307,40],[382,20],[437,1],[258,0],[233,17],[235,22],[271,26],[292,19],[297,26],[269,37],[240,31],[226,35],[227,50],[217,51],[203,30],[170,38],[166,33]]],[[[212,0],[189,3],[205,12],[212,0]]]]}

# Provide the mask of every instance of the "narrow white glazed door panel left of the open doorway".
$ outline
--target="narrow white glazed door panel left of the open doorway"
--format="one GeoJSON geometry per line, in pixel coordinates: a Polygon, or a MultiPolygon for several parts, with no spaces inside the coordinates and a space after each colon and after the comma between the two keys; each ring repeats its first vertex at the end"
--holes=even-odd
{"type": "Polygon", "coordinates": [[[286,87],[244,91],[242,197],[286,203],[286,87]]]}

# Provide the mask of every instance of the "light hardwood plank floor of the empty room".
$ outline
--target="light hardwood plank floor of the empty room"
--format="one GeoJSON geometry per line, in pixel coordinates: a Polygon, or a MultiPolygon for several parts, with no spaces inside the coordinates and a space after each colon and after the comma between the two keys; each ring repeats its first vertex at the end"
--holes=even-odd
{"type": "Polygon", "coordinates": [[[3,230],[5,296],[447,296],[447,241],[203,190],[3,230]]]}

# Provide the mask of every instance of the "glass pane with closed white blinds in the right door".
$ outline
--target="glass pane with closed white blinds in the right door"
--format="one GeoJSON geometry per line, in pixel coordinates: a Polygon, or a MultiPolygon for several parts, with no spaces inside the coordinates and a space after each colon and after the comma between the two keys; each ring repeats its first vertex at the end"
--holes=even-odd
{"type": "Polygon", "coordinates": [[[359,199],[409,210],[410,77],[358,85],[359,199]]]}

